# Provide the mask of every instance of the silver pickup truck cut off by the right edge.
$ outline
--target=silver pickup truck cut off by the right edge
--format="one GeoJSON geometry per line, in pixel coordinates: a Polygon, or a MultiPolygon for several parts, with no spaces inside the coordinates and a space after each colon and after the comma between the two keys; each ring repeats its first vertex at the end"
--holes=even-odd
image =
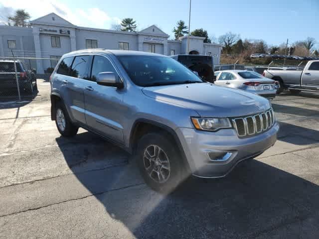
{"type": "Polygon", "coordinates": [[[263,75],[279,82],[278,93],[319,92],[319,60],[309,61],[303,71],[265,70],[263,75]]]}

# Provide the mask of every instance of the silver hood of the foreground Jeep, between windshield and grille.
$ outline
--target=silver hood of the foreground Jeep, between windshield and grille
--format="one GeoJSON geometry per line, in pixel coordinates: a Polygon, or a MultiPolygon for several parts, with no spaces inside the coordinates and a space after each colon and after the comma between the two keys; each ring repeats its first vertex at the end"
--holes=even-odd
{"type": "Polygon", "coordinates": [[[270,102],[260,96],[210,83],[145,87],[156,100],[194,110],[200,117],[239,117],[264,112],[270,102]]]}

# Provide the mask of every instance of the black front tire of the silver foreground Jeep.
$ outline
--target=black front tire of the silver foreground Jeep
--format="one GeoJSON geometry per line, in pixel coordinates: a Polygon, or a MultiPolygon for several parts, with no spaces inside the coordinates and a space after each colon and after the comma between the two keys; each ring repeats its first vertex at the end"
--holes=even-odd
{"type": "MultiPolygon", "coordinates": [[[[168,135],[162,134],[162,133],[157,133],[157,132],[151,132],[147,133],[138,142],[137,146],[137,164],[140,169],[140,172],[146,182],[147,185],[149,185],[152,189],[154,189],[157,192],[163,193],[163,194],[168,194],[172,191],[174,191],[178,185],[186,179],[187,175],[187,170],[185,169],[186,166],[183,163],[183,159],[180,157],[179,152],[176,150],[176,143],[172,142],[170,140],[168,135]],[[165,156],[167,157],[167,163],[163,163],[165,167],[169,166],[169,172],[165,168],[161,168],[162,166],[156,166],[156,163],[153,162],[154,167],[160,167],[160,169],[157,169],[158,171],[161,172],[160,178],[166,177],[166,179],[162,182],[159,182],[159,180],[156,180],[154,178],[158,178],[156,175],[156,171],[153,171],[150,173],[147,171],[147,166],[150,165],[150,169],[152,169],[152,164],[150,164],[149,160],[144,157],[146,150],[150,150],[152,152],[152,145],[156,145],[160,147],[160,149],[163,151],[160,153],[158,158],[160,158],[162,161],[165,161],[165,156]],[[164,176],[162,176],[164,175],[164,176]]],[[[154,149],[155,151],[155,149],[154,149]]],[[[154,152],[154,155],[156,153],[154,152]]],[[[156,156],[154,156],[154,160],[156,156]]],[[[154,168],[153,168],[154,169],[154,168]]]]}

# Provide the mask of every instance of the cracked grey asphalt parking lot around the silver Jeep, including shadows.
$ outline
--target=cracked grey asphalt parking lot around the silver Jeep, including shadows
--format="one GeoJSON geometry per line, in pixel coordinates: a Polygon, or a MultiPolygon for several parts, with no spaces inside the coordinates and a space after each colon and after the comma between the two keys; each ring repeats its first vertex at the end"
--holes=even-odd
{"type": "Polygon", "coordinates": [[[319,238],[319,94],[276,97],[272,148],[162,196],[121,148],[60,137],[49,83],[38,89],[0,100],[0,238],[319,238]]]}

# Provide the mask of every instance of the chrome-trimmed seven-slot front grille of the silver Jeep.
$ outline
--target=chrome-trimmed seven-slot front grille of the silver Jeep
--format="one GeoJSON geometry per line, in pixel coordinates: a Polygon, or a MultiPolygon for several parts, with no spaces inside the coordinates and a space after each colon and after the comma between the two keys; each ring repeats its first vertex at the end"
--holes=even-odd
{"type": "Polygon", "coordinates": [[[254,135],[273,126],[275,123],[274,111],[270,109],[258,115],[235,118],[232,119],[232,123],[238,136],[254,135]]]}

